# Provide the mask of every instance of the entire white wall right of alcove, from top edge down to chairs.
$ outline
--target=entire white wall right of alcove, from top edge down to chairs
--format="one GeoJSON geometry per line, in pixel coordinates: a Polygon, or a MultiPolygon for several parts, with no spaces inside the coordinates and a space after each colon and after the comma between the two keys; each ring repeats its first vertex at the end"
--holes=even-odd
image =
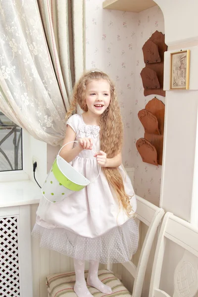
{"type": "MultiPolygon", "coordinates": [[[[195,167],[198,142],[198,26],[196,26],[198,2],[181,0],[179,5],[178,0],[174,2],[155,0],[155,2],[164,12],[165,41],[169,46],[168,50],[191,49],[190,90],[166,92],[160,205],[166,211],[172,211],[175,215],[196,223],[195,217],[198,213],[195,198],[198,193],[195,179],[198,170],[195,167]],[[195,204],[192,204],[193,202],[195,204]]],[[[170,52],[165,54],[165,90],[169,90],[169,55],[170,52]]]]}

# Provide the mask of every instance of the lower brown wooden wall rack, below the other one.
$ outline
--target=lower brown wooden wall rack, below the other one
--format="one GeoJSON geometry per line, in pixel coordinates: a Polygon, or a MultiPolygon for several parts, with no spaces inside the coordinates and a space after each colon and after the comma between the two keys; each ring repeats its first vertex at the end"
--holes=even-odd
{"type": "Polygon", "coordinates": [[[162,165],[163,134],[165,105],[161,100],[153,98],[138,117],[145,128],[144,138],[136,142],[136,147],[143,162],[162,165]]]}

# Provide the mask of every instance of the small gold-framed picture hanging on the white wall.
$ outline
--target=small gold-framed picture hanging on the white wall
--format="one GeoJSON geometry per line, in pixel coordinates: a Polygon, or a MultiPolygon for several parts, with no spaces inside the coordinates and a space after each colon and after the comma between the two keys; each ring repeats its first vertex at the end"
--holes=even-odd
{"type": "Polygon", "coordinates": [[[190,49],[170,54],[170,90],[189,90],[190,49]]]}

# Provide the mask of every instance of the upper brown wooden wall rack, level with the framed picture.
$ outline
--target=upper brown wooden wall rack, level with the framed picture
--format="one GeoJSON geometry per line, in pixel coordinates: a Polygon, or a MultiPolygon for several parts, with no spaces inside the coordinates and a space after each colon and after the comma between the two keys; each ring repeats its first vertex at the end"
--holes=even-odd
{"type": "Polygon", "coordinates": [[[164,52],[167,50],[165,36],[155,31],[143,46],[145,68],[141,71],[144,95],[165,96],[163,91],[164,52]]]}

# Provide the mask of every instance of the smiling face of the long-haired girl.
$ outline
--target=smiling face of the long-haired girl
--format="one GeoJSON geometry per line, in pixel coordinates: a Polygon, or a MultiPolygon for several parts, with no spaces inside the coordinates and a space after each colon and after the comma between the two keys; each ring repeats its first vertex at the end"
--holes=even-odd
{"type": "Polygon", "coordinates": [[[110,85],[106,80],[91,80],[85,92],[88,112],[101,115],[110,103],[110,85]]]}

